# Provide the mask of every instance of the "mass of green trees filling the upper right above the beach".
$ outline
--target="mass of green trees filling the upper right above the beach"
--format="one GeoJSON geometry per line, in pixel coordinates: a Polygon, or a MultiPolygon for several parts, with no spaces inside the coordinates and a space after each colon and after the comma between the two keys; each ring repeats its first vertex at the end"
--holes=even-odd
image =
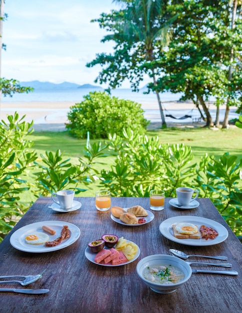
{"type": "MultiPolygon", "coordinates": [[[[211,96],[217,105],[216,124],[219,123],[220,104],[227,103],[227,109],[231,105],[238,106],[239,112],[242,85],[241,1],[117,2],[123,5],[122,9],[102,13],[99,19],[93,20],[98,21],[101,28],[112,32],[102,41],[115,42],[113,54],[97,54],[95,60],[87,63],[87,66],[100,64],[103,67],[95,82],[107,83],[115,88],[127,78],[133,90],[137,90],[146,73],[152,79],[150,90],[157,93],[182,92],[182,100],[191,99],[201,105],[207,126],[213,124],[206,105],[211,96]],[[235,2],[237,5],[233,5],[235,2]],[[170,19],[176,16],[176,19],[170,19]],[[231,27],[232,23],[234,27],[231,27]],[[167,35],[170,39],[171,34],[172,39],[167,40],[167,35]]],[[[162,119],[161,107],[160,112],[162,119]]]]}

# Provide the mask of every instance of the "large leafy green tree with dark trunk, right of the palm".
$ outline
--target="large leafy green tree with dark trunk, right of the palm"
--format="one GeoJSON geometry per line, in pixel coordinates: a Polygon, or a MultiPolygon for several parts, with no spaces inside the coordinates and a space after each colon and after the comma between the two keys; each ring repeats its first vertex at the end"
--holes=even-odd
{"type": "MultiPolygon", "coordinates": [[[[206,126],[213,124],[205,101],[215,97],[215,104],[241,105],[241,18],[231,29],[231,6],[227,0],[178,0],[169,8],[179,12],[172,25],[173,39],[160,59],[153,64],[164,73],[152,90],[183,92],[183,100],[201,105],[206,126]],[[231,46],[233,62],[231,63],[231,46]],[[229,65],[233,71],[228,78],[229,65]],[[240,78],[239,78],[240,77],[240,78]]],[[[237,7],[237,12],[239,8],[237,7]]]]}

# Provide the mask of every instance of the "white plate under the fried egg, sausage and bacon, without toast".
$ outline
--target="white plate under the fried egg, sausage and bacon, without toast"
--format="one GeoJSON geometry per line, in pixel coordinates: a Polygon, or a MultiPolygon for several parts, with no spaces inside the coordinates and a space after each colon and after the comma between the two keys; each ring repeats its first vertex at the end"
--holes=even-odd
{"type": "Polygon", "coordinates": [[[50,251],[63,249],[65,247],[69,246],[70,244],[74,243],[79,238],[79,235],[80,235],[80,229],[71,223],[68,223],[66,221],[58,221],[58,220],[46,220],[46,221],[39,221],[36,223],[28,224],[26,226],[23,226],[23,227],[17,229],[11,235],[10,243],[14,248],[16,248],[20,251],[33,252],[33,253],[43,253],[43,252],[50,252],[50,251]],[[47,246],[44,246],[44,243],[42,243],[42,244],[27,244],[25,241],[25,237],[28,234],[31,234],[33,231],[46,233],[45,231],[42,230],[43,225],[49,226],[50,228],[52,228],[56,231],[56,233],[54,235],[48,234],[48,236],[49,236],[48,241],[52,241],[52,240],[56,239],[57,237],[59,237],[60,232],[62,230],[62,227],[64,225],[68,226],[71,235],[68,239],[63,240],[60,244],[58,244],[56,246],[47,247],[47,246]]]}

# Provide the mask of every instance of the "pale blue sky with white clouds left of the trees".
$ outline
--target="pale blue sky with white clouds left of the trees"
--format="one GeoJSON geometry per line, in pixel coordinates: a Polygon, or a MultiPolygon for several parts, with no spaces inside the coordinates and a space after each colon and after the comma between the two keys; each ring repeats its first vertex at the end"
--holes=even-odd
{"type": "Polygon", "coordinates": [[[112,52],[113,42],[101,43],[106,31],[90,20],[119,7],[112,0],[5,0],[1,76],[94,85],[101,67],[85,64],[112,52]]]}

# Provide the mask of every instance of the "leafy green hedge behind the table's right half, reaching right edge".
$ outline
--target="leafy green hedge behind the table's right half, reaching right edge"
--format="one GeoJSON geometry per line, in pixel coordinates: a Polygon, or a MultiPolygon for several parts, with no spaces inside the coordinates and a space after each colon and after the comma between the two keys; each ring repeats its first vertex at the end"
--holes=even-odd
{"type": "Polygon", "coordinates": [[[242,235],[242,159],[226,152],[218,160],[204,155],[199,164],[191,164],[189,146],[163,144],[130,129],[109,139],[115,164],[101,170],[102,189],[109,189],[112,196],[143,197],[157,188],[175,197],[178,186],[197,188],[199,197],[210,198],[233,232],[242,235]]]}

